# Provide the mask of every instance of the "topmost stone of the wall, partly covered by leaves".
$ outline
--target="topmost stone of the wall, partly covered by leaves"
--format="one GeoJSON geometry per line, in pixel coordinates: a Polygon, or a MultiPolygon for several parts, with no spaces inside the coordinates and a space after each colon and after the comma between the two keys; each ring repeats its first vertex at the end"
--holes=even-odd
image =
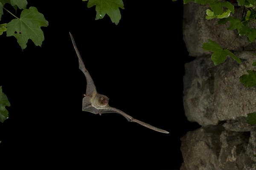
{"type": "MultiPolygon", "coordinates": [[[[216,25],[218,22],[217,19],[206,20],[206,9],[208,8],[209,6],[196,3],[184,5],[183,40],[186,43],[190,56],[199,57],[210,54],[201,48],[203,43],[207,42],[208,39],[218,42],[223,48],[229,47],[230,50],[234,51],[250,51],[256,49],[256,43],[249,43],[247,37],[237,37],[236,30],[227,30],[229,23],[216,25]],[[233,40],[235,42],[231,45],[233,40]]],[[[236,8],[235,10],[236,15],[234,17],[241,16],[242,9],[236,8]]]]}

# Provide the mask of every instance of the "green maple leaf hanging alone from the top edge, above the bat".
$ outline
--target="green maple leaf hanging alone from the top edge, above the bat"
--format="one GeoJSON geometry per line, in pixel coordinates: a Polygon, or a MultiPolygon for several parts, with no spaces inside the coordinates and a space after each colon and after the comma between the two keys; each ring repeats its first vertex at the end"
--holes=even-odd
{"type": "Polygon", "coordinates": [[[119,23],[119,20],[121,20],[119,8],[124,9],[122,0],[88,0],[87,7],[90,8],[92,6],[96,6],[95,20],[102,19],[105,14],[108,14],[112,23],[116,25],[119,23]]]}

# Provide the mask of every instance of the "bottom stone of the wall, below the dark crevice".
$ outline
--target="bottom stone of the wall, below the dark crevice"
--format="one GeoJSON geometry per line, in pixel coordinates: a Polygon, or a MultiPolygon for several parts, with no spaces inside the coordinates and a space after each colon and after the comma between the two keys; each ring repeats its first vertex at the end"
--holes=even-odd
{"type": "Polygon", "coordinates": [[[225,130],[221,125],[201,127],[181,138],[180,170],[255,170],[256,129],[225,130]]]}

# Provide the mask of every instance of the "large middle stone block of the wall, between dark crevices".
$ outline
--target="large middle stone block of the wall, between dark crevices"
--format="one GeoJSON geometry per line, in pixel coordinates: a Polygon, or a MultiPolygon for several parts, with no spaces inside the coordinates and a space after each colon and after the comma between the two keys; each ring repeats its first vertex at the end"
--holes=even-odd
{"type": "Polygon", "coordinates": [[[185,64],[183,105],[189,121],[218,125],[256,111],[256,88],[239,82],[242,74],[253,69],[256,57],[247,51],[235,54],[242,59],[241,64],[228,58],[215,66],[209,56],[185,64]]]}

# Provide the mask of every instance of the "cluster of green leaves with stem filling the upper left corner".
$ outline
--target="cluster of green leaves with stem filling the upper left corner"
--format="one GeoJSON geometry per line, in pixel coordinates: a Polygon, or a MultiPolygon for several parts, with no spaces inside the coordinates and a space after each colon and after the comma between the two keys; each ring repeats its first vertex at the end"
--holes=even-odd
{"type": "Polygon", "coordinates": [[[44,41],[44,33],[41,30],[41,26],[48,26],[48,21],[45,20],[43,14],[38,12],[37,8],[30,7],[26,9],[26,6],[26,0],[0,0],[0,20],[3,15],[3,9],[16,18],[7,24],[0,24],[0,35],[6,31],[7,37],[14,36],[22,50],[26,48],[29,39],[31,39],[36,46],[41,46],[44,41]],[[4,8],[6,3],[11,4],[15,10],[17,10],[17,8],[23,9],[20,18],[4,8]]]}

